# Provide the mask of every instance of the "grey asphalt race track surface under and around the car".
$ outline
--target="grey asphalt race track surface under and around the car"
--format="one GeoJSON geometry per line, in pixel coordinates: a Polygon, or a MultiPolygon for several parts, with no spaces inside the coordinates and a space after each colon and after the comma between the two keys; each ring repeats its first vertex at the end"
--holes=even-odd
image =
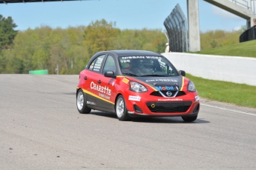
{"type": "MultiPolygon", "coordinates": [[[[256,109],[200,99],[194,123],[76,109],[78,75],[0,75],[0,169],[256,169],[256,109]]],[[[200,94],[199,94],[200,95],[200,94]]]]}

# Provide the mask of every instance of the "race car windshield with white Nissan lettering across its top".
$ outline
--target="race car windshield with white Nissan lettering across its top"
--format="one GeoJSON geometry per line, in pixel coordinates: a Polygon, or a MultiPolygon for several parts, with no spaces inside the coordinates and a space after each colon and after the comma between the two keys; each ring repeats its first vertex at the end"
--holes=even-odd
{"type": "Polygon", "coordinates": [[[159,56],[119,57],[119,67],[123,75],[131,76],[177,76],[177,70],[171,62],[159,56]]]}

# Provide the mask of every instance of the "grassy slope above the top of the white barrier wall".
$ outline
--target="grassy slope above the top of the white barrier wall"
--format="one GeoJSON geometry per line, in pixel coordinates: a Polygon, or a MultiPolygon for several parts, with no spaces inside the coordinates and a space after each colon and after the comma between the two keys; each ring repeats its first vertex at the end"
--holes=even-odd
{"type": "Polygon", "coordinates": [[[253,40],[253,41],[246,41],[239,44],[232,44],[229,46],[217,47],[209,50],[202,50],[200,52],[192,52],[192,53],[256,58],[255,49],[256,49],[256,40],[253,40]]]}

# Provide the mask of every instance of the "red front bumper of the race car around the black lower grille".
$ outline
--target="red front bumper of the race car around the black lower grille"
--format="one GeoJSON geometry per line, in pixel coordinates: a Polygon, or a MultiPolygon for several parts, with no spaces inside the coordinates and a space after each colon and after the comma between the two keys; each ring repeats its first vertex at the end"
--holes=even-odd
{"type": "Polygon", "coordinates": [[[141,101],[127,101],[128,115],[136,116],[195,116],[200,110],[197,93],[190,93],[180,98],[157,98],[141,101]]]}

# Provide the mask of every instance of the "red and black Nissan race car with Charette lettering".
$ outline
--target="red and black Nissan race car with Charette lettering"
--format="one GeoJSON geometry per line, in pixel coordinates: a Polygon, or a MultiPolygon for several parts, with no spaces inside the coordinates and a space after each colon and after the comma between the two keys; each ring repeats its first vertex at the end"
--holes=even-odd
{"type": "Polygon", "coordinates": [[[197,119],[199,97],[194,83],[156,52],[97,52],[79,74],[76,106],[114,112],[119,120],[136,116],[180,116],[197,119]]]}

